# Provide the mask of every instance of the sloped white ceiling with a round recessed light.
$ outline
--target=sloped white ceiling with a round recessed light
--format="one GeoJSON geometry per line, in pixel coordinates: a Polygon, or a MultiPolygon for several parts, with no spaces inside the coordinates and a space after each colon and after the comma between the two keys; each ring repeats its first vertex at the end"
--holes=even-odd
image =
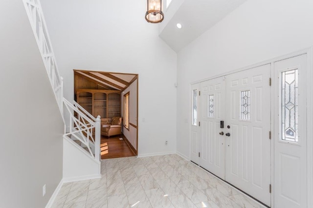
{"type": "Polygon", "coordinates": [[[178,52],[246,0],[172,0],[165,10],[159,36],[178,52]],[[182,28],[176,27],[180,23],[182,28]]]}

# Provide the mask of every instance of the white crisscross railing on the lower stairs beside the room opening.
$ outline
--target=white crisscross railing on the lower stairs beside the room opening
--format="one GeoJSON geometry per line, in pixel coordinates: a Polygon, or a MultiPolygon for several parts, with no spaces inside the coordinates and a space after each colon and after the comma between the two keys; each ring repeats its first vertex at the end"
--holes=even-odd
{"type": "Polygon", "coordinates": [[[65,136],[73,140],[79,140],[82,144],[87,146],[90,156],[96,161],[100,161],[100,116],[91,120],[79,108],[69,103],[65,98],[64,105],[69,113],[69,132],[65,136]],[[75,116],[76,114],[76,116],[75,116]],[[93,134],[93,132],[95,132],[93,134]],[[94,146],[94,148],[90,147],[94,146]],[[93,150],[94,149],[94,150],[93,150]]]}

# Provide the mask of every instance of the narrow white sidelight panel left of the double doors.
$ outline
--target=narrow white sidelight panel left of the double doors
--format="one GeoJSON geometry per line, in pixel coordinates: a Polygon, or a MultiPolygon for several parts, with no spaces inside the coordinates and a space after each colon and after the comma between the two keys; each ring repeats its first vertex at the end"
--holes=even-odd
{"type": "Polygon", "coordinates": [[[199,165],[199,143],[200,143],[200,127],[199,127],[199,83],[191,85],[192,109],[191,109],[191,161],[199,165]]]}

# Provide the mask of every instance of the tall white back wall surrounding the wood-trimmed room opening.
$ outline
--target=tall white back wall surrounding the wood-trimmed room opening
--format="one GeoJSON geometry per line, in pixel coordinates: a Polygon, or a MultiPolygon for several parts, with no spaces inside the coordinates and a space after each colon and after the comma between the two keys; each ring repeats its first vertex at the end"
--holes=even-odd
{"type": "Polygon", "coordinates": [[[73,99],[72,69],[139,74],[138,153],[175,151],[177,56],[145,21],[146,0],[41,3],[65,97],[73,99]]]}

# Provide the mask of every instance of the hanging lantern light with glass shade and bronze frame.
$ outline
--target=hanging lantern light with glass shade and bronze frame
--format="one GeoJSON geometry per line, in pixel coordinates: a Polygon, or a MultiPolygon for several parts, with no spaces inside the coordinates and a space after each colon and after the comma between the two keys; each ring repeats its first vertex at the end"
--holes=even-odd
{"type": "Polygon", "coordinates": [[[147,0],[146,21],[158,23],[163,21],[162,0],[147,0]]]}

